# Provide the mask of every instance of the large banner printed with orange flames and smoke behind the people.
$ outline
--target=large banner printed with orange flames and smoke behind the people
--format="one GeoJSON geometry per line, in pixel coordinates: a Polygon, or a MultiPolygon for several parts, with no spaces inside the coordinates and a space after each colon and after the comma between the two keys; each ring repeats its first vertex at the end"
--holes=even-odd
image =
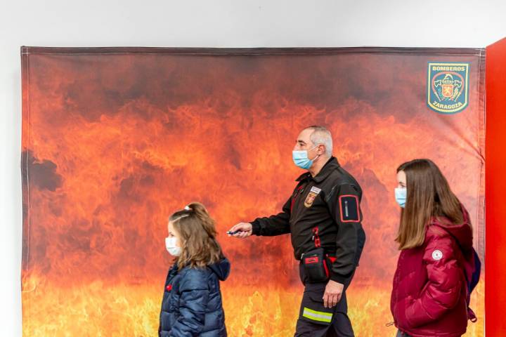
{"type": "MultiPolygon", "coordinates": [[[[484,255],[484,50],[22,48],[23,335],[156,336],[168,216],[201,201],[231,260],[230,336],[293,336],[287,235],[228,238],[278,213],[299,131],[332,131],[368,236],[348,291],[357,336],[393,336],[396,168],[433,159],[484,255]]],[[[482,273],[483,275],[483,273],[482,273]]],[[[472,297],[484,336],[484,282],[472,297]]]]}

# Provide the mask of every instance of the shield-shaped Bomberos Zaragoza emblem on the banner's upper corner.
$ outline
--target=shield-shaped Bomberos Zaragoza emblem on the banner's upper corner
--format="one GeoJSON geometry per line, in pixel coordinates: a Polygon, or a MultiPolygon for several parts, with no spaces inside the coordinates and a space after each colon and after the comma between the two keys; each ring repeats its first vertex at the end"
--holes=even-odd
{"type": "Polygon", "coordinates": [[[429,62],[427,105],[441,114],[461,112],[469,103],[469,63],[429,62]]]}

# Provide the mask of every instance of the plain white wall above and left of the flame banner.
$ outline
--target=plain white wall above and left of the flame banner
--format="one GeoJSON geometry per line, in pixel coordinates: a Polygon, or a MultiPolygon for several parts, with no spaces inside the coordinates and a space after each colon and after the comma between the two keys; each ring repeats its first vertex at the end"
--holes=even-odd
{"type": "Polygon", "coordinates": [[[505,17],[505,0],[2,0],[0,336],[21,336],[20,46],[484,47],[505,17]]]}

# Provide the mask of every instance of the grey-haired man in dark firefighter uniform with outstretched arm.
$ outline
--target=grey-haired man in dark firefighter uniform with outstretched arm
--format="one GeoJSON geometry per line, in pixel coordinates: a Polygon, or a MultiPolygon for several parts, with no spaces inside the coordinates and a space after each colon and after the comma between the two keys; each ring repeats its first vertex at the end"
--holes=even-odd
{"type": "Polygon", "coordinates": [[[238,223],[229,236],[290,234],[304,284],[295,337],[354,336],[347,315],[349,286],[365,244],[362,190],[332,157],[332,136],[323,126],[299,134],[292,153],[306,173],[281,213],[238,223]]]}

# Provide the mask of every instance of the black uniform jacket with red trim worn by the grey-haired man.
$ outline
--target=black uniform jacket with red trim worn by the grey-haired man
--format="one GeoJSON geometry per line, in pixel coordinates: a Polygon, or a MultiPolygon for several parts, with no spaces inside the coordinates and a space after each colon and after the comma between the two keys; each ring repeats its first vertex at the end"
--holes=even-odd
{"type": "Polygon", "coordinates": [[[361,187],[335,157],[315,177],[306,172],[297,182],[283,212],[255,219],[252,232],[263,236],[290,233],[297,260],[313,249],[319,239],[325,253],[335,256],[330,279],[347,286],[365,244],[361,187]]]}

